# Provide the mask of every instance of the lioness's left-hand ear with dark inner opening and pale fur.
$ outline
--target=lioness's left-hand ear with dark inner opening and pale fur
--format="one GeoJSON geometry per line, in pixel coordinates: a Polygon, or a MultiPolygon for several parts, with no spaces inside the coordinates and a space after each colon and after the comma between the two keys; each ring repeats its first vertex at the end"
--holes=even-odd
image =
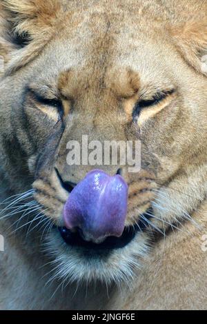
{"type": "Polygon", "coordinates": [[[57,32],[60,11],[59,0],[1,0],[0,56],[15,68],[28,63],[57,32]]]}

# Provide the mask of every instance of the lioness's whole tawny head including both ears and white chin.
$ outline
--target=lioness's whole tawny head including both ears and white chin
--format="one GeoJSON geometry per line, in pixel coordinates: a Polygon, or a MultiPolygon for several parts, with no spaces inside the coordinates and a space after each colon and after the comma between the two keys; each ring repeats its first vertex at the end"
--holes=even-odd
{"type": "Polygon", "coordinates": [[[34,197],[30,223],[57,276],[127,279],[204,200],[206,18],[204,1],[1,1],[2,174],[34,197]],[[141,141],[141,170],[68,165],[67,143],[83,135],[141,141]],[[70,192],[94,169],[128,184],[124,232],[101,243],[63,227],[70,192]]]}

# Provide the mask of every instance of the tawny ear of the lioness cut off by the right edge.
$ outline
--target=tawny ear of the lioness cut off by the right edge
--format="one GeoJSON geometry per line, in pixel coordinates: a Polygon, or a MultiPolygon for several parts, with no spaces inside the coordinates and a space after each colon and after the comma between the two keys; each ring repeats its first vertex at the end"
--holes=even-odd
{"type": "Polygon", "coordinates": [[[207,75],[207,22],[185,23],[171,29],[181,55],[197,71],[207,75]]]}

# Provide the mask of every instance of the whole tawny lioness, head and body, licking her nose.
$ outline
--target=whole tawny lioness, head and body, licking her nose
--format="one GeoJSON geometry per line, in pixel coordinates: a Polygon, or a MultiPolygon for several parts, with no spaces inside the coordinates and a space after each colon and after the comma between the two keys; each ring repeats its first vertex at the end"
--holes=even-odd
{"type": "Polygon", "coordinates": [[[0,1],[1,310],[206,309],[206,21],[204,0],[0,1]],[[139,172],[68,165],[83,135],[139,141],[139,172]],[[117,236],[63,221],[94,170],[128,185],[117,236]]]}

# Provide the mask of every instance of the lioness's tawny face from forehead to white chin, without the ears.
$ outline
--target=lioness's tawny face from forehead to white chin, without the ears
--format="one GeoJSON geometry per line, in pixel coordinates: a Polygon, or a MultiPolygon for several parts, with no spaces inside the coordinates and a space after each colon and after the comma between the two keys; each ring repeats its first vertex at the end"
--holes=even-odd
{"type": "Polygon", "coordinates": [[[56,275],[68,280],[130,278],[157,236],[188,221],[204,196],[198,183],[206,176],[206,77],[181,56],[168,30],[139,19],[92,9],[70,14],[37,57],[2,81],[23,156],[18,163],[51,225],[49,234],[39,230],[56,275]],[[140,141],[141,170],[129,172],[119,161],[68,165],[67,144],[83,135],[89,143],[140,141]],[[70,193],[94,169],[128,184],[124,232],[101,243],[63,223],[70,193]]]}

